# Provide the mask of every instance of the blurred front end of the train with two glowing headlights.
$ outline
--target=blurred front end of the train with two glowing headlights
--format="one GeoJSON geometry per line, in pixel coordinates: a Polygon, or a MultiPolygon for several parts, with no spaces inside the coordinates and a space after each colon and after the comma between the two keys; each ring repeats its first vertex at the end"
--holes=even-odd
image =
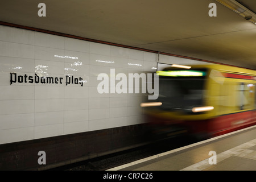
{"type": "Polygon", "coordinates": [[[188,68],[171,67],[156,72],[159,97],[141,105],[155,138],[207,135],[204,121],[212,116],[210,111],[214,109],[207,96],[209,70],[188,68]]]}

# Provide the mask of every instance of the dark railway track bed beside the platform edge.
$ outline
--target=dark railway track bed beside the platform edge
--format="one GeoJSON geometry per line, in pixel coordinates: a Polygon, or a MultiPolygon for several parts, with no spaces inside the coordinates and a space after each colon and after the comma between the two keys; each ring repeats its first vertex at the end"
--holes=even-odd
{"type": "Polygon", "coordinates": [[[175,137],[169,139],[161,139],[141,147],[133,148],[126,151],[117,152],[98,158],[85,160],[78,163],[68,164],[57,168],[49,169],[49,171],[105,171],[106,169],[121,166],[135,160],[147,158],[162,152],[183,147],[198,140],[189,137],[175,137]]]}

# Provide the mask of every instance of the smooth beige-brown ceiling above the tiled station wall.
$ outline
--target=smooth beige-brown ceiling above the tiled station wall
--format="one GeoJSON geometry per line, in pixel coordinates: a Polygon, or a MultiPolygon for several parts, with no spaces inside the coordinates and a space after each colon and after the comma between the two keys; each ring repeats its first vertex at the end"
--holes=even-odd
{"type": "MultiPolygon", "coordinates": [[[[237,2],[255,13],[256,1],[237,2]]],[[[2,22],[256,69],[256,24],[215,0],[9,0],[0,12],[2,22]]]]}

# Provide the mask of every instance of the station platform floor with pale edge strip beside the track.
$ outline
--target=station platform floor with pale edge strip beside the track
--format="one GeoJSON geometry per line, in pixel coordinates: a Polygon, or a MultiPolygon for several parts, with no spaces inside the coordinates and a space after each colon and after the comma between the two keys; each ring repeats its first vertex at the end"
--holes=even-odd
{"type": "Polygon", "coordinates": [[[256,171],[256,126],[176,148],[108,171],[256,171]]]}

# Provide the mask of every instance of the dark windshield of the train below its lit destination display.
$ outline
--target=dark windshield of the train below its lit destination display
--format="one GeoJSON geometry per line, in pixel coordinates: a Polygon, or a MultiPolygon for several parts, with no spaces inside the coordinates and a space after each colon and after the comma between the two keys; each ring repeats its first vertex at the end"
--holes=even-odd
{"type": "Polygon", "coordinates": [[[158,101],[162,102],[160,108],[190,112],[193,107],[203,106],[206,71],[192,71],[192,75],[184,72],[185,76],[181,71],[176,71],[180,76],[170,73],[171,76],[165,75],[166,73],[159,74],[158,101]]]}

